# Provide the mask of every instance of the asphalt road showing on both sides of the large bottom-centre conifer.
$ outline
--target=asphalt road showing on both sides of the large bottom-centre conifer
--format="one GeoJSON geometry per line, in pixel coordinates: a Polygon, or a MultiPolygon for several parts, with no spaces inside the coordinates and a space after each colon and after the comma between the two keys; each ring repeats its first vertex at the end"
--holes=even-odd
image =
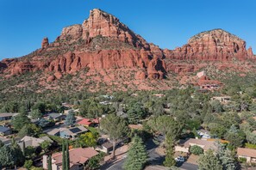
{"type": "MultiPolygon", "coordinates": [[[[146,149],[148,153],[148,162],[151,165],[161,165],[164,161],[164,157],[159,155],[155,149],[158,147],[155,143],[153,143],[153,139],[150,139],[146,143],[146,149]]],[[[122,161],[118,161],[113,165],[109,165],[109,167],[102,168],[102,170],[121,170],[123,167],[123,163],[125,159],[122,161]]]]}

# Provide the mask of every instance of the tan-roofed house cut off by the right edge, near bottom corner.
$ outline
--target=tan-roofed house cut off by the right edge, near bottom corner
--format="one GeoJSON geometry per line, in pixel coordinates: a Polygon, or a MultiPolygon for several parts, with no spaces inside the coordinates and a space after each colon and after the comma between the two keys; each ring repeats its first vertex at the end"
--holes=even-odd
{"type": "Polygon", "coordinates": [[[246,158],[247,163],[256,163],[256,149],[237,149],[238,158],[246,158]]]}

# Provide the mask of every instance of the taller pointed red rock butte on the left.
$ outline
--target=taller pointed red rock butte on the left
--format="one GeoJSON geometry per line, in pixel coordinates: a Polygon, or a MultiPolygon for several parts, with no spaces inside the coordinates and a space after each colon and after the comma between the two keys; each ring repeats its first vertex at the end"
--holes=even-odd
{"type": "Polygon", "coordinates": [[[5,71],[11,74],[34,70],[72,73],[85,67],[90,70],[138,68],[145,77],[165,76],[165,62],[159,47],[147,44],[115,16],[100,9],[91,10],[82,25],[65,27],[52,44],[47,38],[43,39],[41,46],[30,56],[8,64],[5,71]]]}

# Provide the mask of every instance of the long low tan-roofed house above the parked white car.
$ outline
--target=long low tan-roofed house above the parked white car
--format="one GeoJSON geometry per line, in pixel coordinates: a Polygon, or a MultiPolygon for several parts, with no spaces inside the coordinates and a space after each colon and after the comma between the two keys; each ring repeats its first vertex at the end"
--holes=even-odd
{"type": "Polygon", "coordinates": [[[217,147],[215,146],[215,141],[190,138],[187,140],[180,140],[178,145],[175,146],[175,151],[189,153],[190,147],[194,145],[201,147],[203,151],[206,151],[208,149],[217,149],[217,147]]]}

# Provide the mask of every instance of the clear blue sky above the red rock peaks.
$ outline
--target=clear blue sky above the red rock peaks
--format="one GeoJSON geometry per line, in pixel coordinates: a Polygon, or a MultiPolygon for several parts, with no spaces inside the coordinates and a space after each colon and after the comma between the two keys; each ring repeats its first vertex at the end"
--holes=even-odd
{"type": "Polygon", "coordinates": [[[255,0],[0,0],[0,60],[33,52],[45,36],[52,42],[95,8],[161,48],[174,49],[196,33],[222,28],[256,53],[255,0]]]}

